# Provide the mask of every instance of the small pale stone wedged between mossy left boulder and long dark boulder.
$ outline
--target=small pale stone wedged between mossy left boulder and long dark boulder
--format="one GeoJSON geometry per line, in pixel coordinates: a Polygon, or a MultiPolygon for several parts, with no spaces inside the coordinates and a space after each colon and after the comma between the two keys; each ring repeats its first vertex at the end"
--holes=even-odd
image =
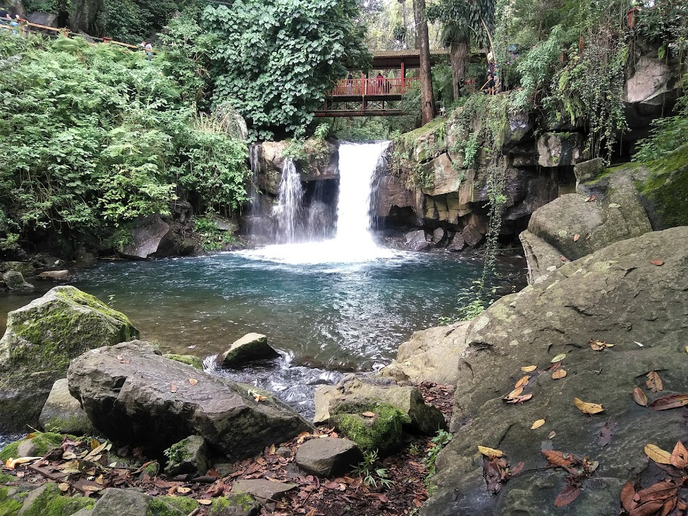
{"type": "Polygon", "coordinates": [[[41,410],[39,423],[47,432],[85,436],[94,431],[78,400],[69,394],[67,378],[61,378],[52,385],[50,395],[41,410]]]}

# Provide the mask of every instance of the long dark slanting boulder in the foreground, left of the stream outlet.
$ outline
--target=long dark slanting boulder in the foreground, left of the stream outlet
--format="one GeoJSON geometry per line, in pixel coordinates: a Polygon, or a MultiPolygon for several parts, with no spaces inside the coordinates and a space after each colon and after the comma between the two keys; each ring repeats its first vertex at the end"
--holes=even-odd
{"type": "Polygon", "coordinates": [[[197,435],[239,459],[310,429],[270,394],[158,353],[133,341],[89,351],[69,366],[69,391],[107,438],[160,454],[197,435]]]}

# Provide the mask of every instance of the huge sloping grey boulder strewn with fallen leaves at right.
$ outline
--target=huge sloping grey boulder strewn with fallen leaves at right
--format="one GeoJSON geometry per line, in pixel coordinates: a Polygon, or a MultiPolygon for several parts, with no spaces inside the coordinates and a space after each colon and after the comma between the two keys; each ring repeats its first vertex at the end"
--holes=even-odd
{"type": "Polygon", "coordinates": [[[544,469],[541,454],[552,448],[599,462],[592,477],[581,477],[583,491],[566,514],[619,514],[622,486],[647,467],[645,444],[671,450],[685,440],[682,410],[641,407],[632,391],[640,387],[651,400],[688,391],[686,239],[682,227],[617,242],[500,299],[471,323],[458,363],[455,436],[440,453],[438,491],[422,514],[561,514],[554,500],[567,473],[544,469]],[[597,351],[591,341],[614,346],[597,351]],[[548,369],[555,359],[563,378],[548,369]],[[521,369],[532,365],[533,372],[521,369]],[[646,387],[653,371],[663,379],[658,394],[646,387]],[[526,375],[522,394],[532,399],[506,403],[502,396],[526,375]],[[588,416],[574,398],[604,411],[588,416]],[[545,424],[531,429],[539,419],[545,424]],[[503,451],[511,466],[525,462],[526,471],[491,482],[493,492],[501,490],[488,493],[478,445],[503,451]]]}

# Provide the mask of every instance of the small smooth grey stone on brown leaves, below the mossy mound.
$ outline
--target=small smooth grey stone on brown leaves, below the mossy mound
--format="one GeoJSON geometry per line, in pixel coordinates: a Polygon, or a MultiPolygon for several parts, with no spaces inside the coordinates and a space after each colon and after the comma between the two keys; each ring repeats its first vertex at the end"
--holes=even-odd
{"type": "Polygon", "coordinates": [[[297,450],[297,466],[321,477],[343,475],[363,459],[354,442],[331,437],[311,439],[297,450]]]}

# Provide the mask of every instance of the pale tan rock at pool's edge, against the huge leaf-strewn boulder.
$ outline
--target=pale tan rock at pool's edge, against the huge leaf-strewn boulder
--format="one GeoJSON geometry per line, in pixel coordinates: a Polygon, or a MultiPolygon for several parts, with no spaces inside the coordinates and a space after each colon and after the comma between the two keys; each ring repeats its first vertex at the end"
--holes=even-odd
{"type": "Polygon", "coordinates": [[[459,357],[466,349],[469,323],[454,323],[414,332],[399,346],[396,362],[382,369],[382,375],[411,383],[433,382],[455,385],[459,357]]]}

